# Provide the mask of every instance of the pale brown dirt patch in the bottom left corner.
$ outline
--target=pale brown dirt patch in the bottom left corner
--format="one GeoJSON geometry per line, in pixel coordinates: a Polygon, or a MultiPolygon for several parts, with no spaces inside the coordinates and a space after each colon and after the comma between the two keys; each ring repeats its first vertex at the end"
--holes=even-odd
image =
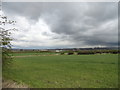
{"type": "Polygon", "coordinates": [[[3,80],[2,88],[28,88],[28,86],[23,84],[18,84],[17,82],[12,80],[3,80]]]}

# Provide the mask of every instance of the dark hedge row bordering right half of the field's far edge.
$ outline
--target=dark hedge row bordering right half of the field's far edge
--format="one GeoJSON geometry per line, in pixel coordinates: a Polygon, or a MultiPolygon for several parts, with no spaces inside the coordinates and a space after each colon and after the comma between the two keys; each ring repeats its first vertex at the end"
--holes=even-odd
{"type": "Polygon", "coordinates": [[[89,54],[119,54],[120,50],[79,50],[79,51],[62,51],[61,55],[89,55],[89,54]]]}

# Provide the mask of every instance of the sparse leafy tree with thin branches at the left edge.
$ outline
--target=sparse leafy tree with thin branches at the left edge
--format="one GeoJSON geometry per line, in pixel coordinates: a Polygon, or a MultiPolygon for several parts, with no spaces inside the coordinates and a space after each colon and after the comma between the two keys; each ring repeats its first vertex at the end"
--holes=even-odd
{"type": "Polygon", "coordinates": [[[1,43],[0,47],[2,48],[2,66],[9,66],[11,63],[11,43],[10,41],[12,40],[11,38],[11,30],[15,30],[15,28],[10,28],[6,29],[5,25],[7,24],[15,24],[15,21],[8,20],[7,16],[2,16],[0,15],[0,38],[1,38],[1,43]]]}

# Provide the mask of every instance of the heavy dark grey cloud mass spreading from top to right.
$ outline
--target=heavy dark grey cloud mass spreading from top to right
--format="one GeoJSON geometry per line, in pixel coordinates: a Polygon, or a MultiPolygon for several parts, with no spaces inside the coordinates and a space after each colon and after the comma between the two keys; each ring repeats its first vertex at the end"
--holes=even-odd
{"type": "Polygon", "coordinates": [[[112,2],[3,3],[5,12],[23,15],[35,21],[44,19],[52,32],[66,35],[63,39],[76,44],[84,42],[85,45],[105,46],[116,46],[118,43],[115,21],[118,16],[117,8],[118,4],[112,2]],[[101,27],[109,22],[113,22],[115,26],[101,27]]]}

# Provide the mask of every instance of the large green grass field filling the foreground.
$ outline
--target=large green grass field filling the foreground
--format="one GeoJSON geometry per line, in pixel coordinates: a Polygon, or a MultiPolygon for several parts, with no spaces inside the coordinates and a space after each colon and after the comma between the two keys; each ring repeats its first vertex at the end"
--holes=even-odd
{"type": "Polygon", "coordinates": [[[116,88],[118,55],[14,57],[3,76],[33,88],[116,88]]]}

